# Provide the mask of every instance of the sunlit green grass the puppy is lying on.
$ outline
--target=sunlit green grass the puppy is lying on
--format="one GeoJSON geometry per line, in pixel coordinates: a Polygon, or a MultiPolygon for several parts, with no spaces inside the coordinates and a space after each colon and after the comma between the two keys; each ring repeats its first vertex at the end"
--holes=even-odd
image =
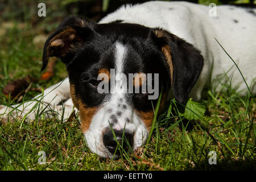
{"type": "MultiPolygon", "coordinates": [[[[0,91],[8,81],[32,75],[40,77],[42,44],[34,44],[37,30],[30,26],[6,29],[0,37],[0,91]],[[26,35],[26,36],[23,36],[26,35]]],[[[231,60],[230,60],[231,61],[231,60]]],[[[64,65],[56,65],[50,81],[32,84],[32,88],[47,88],[63,80],[64,65]]],[[[220,76],[225,78],[225,74],[220,76]]],[[[216,78],[211,85],[216,85],[216,78]]],[[[242,83],[245,84],[245,83],[242,83]]],[[[78,117],[70,122],[62,119],[35,121],[16,119],[0,126],[1,170],[232,170],[255,169],[255,114],[256,104],[250,96],[241,97],[231,88],[230,80],[221,91],[205,88],[205,114],[198,119],[185,119],[175,100],[166,112],[155,118],[151,139],[138,150],[121,152],[118,160],[102,159],[92,154],[85,144],[78,117]],[[178,111],[179,110],[179,111],[178,111]],[[40,151],[46,152],[46,164],[39,164],[40,151]],[[210,151],[217,154],[217,164],[210,165],[210,151]]],[[[38,92],[28,92],[30,100],[38,92]]],[[[3,95],[0,104],[11,101],[3,95]]],[[[16,100],[13,101],[16,103],[16,100]]],[[[180,109],[181,108],[181,109],[180,109]]],[[[182,109],[183,108],[183,109],[182,109]]],[[[157,112],[157,108],[155,110],[157,112]]],[[[192,113],[195,111],[192,110],[192,113]]],[[[122,148],[122,144],[120,144],[122,148]]]]}

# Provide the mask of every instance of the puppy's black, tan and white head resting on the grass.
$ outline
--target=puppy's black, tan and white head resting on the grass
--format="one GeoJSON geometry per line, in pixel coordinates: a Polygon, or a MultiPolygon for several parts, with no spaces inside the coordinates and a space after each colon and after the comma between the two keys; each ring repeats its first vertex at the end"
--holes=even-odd
{"type": "Polygon", "coordinates": [[[122,143],[133,150],[146,142],[159,90],[160,107],[169,89],[184,102],[203,68],[200,52],[165,30],[97,24],[75,16],[49,36],[42,70],[50,56],[67,67],[71,97],[90,150],[109,158],[115,139],[125,138],[127,144],[122,143]]]}

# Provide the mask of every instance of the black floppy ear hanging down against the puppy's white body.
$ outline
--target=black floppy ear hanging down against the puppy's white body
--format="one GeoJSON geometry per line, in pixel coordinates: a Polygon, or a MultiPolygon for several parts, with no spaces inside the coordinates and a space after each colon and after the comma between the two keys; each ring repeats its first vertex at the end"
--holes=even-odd
{"type": "Polygon", "coordinates": [[[183,103],[203,69],[203,56],[192,44],[170,32],[159,28],[152,32],[169,67],[174,97],[183,103]]]}

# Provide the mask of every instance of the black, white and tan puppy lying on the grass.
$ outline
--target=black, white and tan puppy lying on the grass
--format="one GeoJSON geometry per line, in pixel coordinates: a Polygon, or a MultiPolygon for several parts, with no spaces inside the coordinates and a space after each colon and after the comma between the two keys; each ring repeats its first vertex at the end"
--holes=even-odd
{"type": "MultiPolygon", "coordinates": [[[[45,90],[43,97],[35,97],[40,102],[13,106],[18,108],[13,116],[35,119],[35,106],[62,113],[58,104],[65,101],[64,118],[73,106],[79,110],[81,131],[90,150],[112,158],[117,147],[113,132],[119,142],[126,139],[125,148],[135,150],[146,142],[159,90],[162,110],[169,98],[183,104],[188,97],[200,100],[210,78],[227,73],[233,76],[233,86],[240,85],[237,91],[246,94],[240,73],[216,39],[236,61],[247,83],[255,84],[255,9],[217,6],[216,10],[217,16],[211,17],[207,6],[154,1],[122,6],[98,23],[69,16],[47,39],[42,67],[46,68],[49,57],[58,57],[67,67],[68,78],[45,90]],[[125,76],[130,73],[133,77],[127,81],[125,76]],[[115,92],[100,92],[102,83],[104,89],[115,92]],[[142,92],[143,85],[150,83],[154,93],[148,88],[142,92]],[[141,92],[129,92],[134,89],[141,92]],[[149,99],[153,95],[156,98],[149,99]]],[[[255,94],[253,87],[251,91],[255,94]]],[[[12,111],[2,106],[1,120],[12,119],[8,115],[12,111]]]]}

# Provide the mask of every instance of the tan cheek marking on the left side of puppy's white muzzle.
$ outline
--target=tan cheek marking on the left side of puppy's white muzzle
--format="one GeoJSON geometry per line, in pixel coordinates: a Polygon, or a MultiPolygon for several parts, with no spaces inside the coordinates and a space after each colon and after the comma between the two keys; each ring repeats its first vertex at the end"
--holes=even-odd
{"type": "Polygon", "coordinates": [[[93,115],[96,113],[96,107],[88,107],[82,103],[79,97],[76,96],[75,86],[70,85],[70,94],[75,107],[79,110],[79,116],[81,119],[81,130],[85,133],[92,122],[93,115]]]}

